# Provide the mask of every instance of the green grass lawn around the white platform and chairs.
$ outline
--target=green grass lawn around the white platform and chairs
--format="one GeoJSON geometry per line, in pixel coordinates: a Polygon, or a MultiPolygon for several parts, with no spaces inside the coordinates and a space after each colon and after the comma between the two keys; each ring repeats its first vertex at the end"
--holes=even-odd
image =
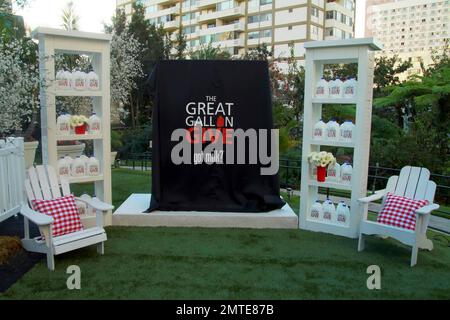
{"type": "MultiPolygon", "coordinates": [[[[150,175],[114,170],[114,203],[149,192],[150,175]]],[[[77,187],[76,192],[82,192],[77,187]]],[[[89,190],[87,190],[89,191],[89,190]]],[[[298,208],[298,199],[294,199],[298,208]]],[[[435,250],[396,241],[357,241],[298,230],[182,228],[107,229],[106,255],[86,248],[44,260],[3,299],[450,299],[450,248],[435,233],[435,250]],[[382,290],[366,287],[370,265],[382,270],[382,290]],[[82,290],[66,288],[66,268],[82,270],[82,290]]],[[[447,237],[448,238],[448,237],[447,237]]]]}

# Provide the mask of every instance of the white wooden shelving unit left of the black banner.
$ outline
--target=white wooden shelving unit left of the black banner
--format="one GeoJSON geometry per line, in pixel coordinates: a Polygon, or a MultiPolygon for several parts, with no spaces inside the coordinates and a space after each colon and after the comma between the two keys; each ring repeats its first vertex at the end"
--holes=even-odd
{"type": "MultiPolygon", "coordinates": [[[[41,77],[41,123],[42,123],[42,157],[44,164],[57,168],[58,141],[87,141],[94,144],[94,156],[100,162],[101,174],[95,177],[70,178],[70,183],[94,183],[96,196],[112,203],[111,195],[111,120],[110,120],[110,42],[111,36],[106,34],[65,31],[50,28],[38,28],[33,37],[39,40],[39,68],[41,77]],[[92,57],[94,72],[100,78],[100,90],[75,91],[58,90],[55,85],[55,54],[85,54],[92,57]],[[56,98],[57,97],[92,97],[93,111],[102,121],[100,135],[60,136],[56,130],[56,98]]],[[[89,115],[86,115],[89,116],[89,115]]],[[[95,224],[95,216],[82,217],[87,226],[95,224]]],[[[104,221],[112,224],[112,213],[109,212],[104,221]]]]}

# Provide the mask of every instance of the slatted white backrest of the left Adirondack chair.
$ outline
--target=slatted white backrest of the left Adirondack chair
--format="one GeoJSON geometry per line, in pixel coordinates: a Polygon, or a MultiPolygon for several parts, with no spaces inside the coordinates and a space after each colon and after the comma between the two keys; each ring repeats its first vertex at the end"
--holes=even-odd
{"type": "Polygon", "coordinates": [[[36,166],[36,168],[28,169],[25,191],[31,205],[33,200],[52,200],[60,198],[61,195],[68,196],[70,195],[70,186],[67,179],[63,177],[60,177],[58,181],[58,176],[52,166],[36,166]]]}

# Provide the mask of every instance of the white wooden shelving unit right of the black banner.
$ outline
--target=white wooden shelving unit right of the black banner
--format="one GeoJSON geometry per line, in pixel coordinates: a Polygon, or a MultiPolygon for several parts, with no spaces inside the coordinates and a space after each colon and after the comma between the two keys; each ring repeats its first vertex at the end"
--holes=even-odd
{"type": "Polygon", "coordinates": [[[372,38],[314,41],[305,43],[306,86],[304,137],[302,156],[302,183],[300,228],[316,232],[326,232],[349,238],[358,237],[359,222],[363,207],[358,199],[367,195],[367,180],[372,122],[372,94],[374,76],[374,51],[381,50],[372,38]],[[355,99],[315,98],[315,87],[323,75],[324,66],[335,63],[358,64],[358,87],[355,99]],[[356,106],[356,129],[353,143],[317,141],[313,139],[313,128],[322,118],[324,105],[348,104],[356,106]],[[353,149],[353,175],[351,184],[336,182],[320,183],[311,177],[308,155],[321,151],[323,146],[353,149]],[[347,226],[309,219],[310,209],[318,199],[319,187],[351,192],[348,205],[351,208],[347,226]]]}

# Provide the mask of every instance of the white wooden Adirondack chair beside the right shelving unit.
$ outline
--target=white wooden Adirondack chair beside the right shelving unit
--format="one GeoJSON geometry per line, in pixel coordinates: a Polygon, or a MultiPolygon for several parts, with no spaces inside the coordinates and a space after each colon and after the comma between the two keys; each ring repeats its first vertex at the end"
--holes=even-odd
{"type": "Polygon", "coordinates": [[[365,235],[391,237],[412,247],[411,267],[415,266],[417,264],[419,249],[433,250],[433,242],[427,239],[427,228],[430,222],[431,212],[439,209],[439,205],[433,203],[435,192],[436,183],[430,181],[430,171],[428,169],[405,167],[401,170],[400,176],[389,178],[385,190],[377,191],[370,197],[359,199],[359,202],[365,205],[366,208],[364,210],[364,217],[361,220],[358,250],[364,250],[365,235]],[[383,199],[384,204],[388,192],[410,199],[428,200],[429,205],[420,208],[416,212],[415,231],[367,220],[369,203],[383,199]]]}

